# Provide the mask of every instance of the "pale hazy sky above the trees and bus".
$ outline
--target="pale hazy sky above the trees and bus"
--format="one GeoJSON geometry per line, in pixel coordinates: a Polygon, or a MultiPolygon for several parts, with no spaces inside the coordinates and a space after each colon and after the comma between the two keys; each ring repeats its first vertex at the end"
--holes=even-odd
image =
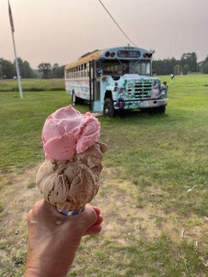
{"type": "MultiPolygon", "coordinates": [[[[137,46],[155,58],[208,55],[208,0],[103,0],[137,46]]],[[[128,40],[98,0],[10,0],[17,55],[33,68],[67,64],[80,55],[128,40]]],[[[7,0],[0,0],[0,57],[14,59],[7,0]]]]}

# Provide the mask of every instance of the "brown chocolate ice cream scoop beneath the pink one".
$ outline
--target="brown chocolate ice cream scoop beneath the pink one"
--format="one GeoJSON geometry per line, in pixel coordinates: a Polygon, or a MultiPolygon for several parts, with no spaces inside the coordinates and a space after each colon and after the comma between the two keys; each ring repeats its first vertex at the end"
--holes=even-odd
{"type": "Polygon", "coordinates": [[[36,177],[44,199],[64,211],[84,208],[98,193],[106,151],[107,145],[98,142],[76,154],[74,161],[44,161],[36,177]]]}

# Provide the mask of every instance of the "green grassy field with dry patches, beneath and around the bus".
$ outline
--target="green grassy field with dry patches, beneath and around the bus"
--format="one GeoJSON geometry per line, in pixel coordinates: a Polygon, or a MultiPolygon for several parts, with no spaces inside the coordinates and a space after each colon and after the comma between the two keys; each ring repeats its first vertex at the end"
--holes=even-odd
{"type": "MultiPolygon", "coordinates": [[[[12,82],[0,94],[0,276],[22,276],[26,211],[40,197],[33,167],[44,159],[42,125],[70,102],[64,91],[24,91],[19,99],[12,82]]],[[[177,77],[168,99],[164,115],[99,118],[109,152],[94,204],[105,222],[101,235],[83,240],[69,276],[207,276],[208,75],[177,77]]]]}

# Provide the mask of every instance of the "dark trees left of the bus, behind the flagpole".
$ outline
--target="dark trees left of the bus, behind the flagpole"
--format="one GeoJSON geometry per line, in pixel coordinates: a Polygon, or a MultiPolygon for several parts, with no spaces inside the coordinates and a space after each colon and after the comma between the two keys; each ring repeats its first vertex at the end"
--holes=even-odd
{"type": "MultiPolygon", "coordinates": [[[[49,62],[42,62],[38,65],[38,69],[31,69],[27,61],[22,60],[20,57],[17,57],[17,60],[21,78],[64,78],[64,65],[60,66],[58,63],[55,63],[52,66],[49,62]]],[[[0,58],[0,79],[12,79],[16,77],[15,62],[0,58]]]]}

